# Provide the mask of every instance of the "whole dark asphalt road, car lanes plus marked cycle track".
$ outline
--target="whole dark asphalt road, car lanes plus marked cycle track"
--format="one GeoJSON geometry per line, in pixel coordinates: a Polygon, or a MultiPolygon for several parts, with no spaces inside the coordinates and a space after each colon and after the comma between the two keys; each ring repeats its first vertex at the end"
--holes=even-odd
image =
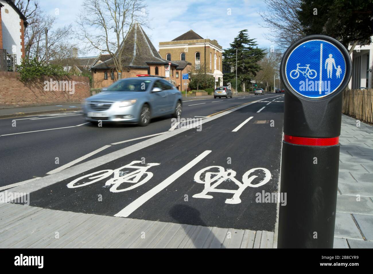
{"type": "Polygon", "coordinates": [[[85,124],[79,111],[2,119],[1,187],[63,173],[70,166],[79,168],[81,163],[138,144],[140,149],[132,153],[32,192],[30,205],[274,231],[276,203],[256,199],[263,191],[278,190],[283,95],[233,99],[184,101],[182,117],[203,122],[184,131],[178,128],[183,125],[172,127],[171,117],[155,119],[147,127],[85,124]],[[153,135],[169,131],[175,134],[141,147],[153,135]],[[132,139],[136,140],[127,142],[132,139]]]}

